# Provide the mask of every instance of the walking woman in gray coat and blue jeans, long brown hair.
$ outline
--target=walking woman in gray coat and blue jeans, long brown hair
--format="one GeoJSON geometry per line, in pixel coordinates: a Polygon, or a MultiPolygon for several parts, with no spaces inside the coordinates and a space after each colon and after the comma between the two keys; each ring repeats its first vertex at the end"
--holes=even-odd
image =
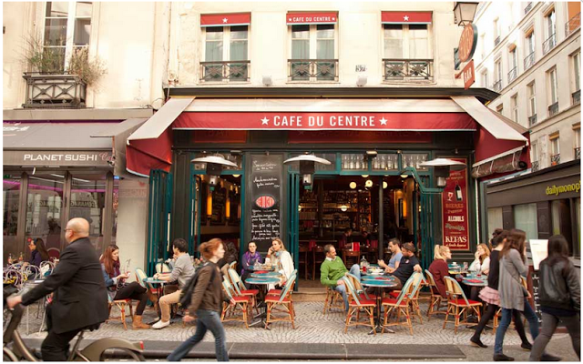
{"type": "MultiPolygon", "coordinates": [[[[516,309],[528,320],[528,328],[532,339],[538,336],[538,319],[535,311],[527,301],[527,289],[522,286],[520,276],[527,275],[526,257],[527,234],[519,229],[510,230],[506,239],[506,245],[500,251],[500,278],[498,281],[498,293],[500,295],[500,308],[502,319],[496,331],[494,344],[494,361],[513,361],[514,358],[502,353],[502,343],[506,335],[506,329],[512,319],[512,310],[516,309]]],[[[554,357],[543,354],[543,360],[553,360],[554,357]]]]}

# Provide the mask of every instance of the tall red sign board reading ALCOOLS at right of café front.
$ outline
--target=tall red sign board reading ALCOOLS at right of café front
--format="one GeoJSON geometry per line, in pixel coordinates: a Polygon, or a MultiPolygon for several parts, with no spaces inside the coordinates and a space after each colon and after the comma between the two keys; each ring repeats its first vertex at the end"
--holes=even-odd
{"type": "MultiPolygon", "coordinates": [[[[451,158],[467,165],[466,158],[451,158]]],[[[467,168],[450,171],[442,193],[444,245],[451,250],[469,250],[467,168]]]]}

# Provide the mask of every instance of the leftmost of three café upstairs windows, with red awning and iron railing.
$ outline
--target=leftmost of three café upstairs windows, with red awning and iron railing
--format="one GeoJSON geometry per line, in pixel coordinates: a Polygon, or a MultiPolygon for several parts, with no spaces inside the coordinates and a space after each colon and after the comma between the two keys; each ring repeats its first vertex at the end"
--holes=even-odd
{"type": "Polygon", "coordinates": [[[202,82],[249,81],[250,23],[250,13],[200,15],[204,39],[202,82]]]}

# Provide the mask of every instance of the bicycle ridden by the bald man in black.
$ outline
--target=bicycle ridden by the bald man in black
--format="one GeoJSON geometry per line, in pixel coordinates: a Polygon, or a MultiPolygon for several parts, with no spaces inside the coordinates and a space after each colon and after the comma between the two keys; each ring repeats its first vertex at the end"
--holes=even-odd
{"type": "MultiPolygon", "coordinates": [[[[14,287],[7,287],[3,289],[4,307],[6,307],[6,298],[15,294],[17,291],[14,287]]],[[[24,314],[24,307],[17,305],[15,308],[8,309],[12,313],[10,322],[8,323],[4,336],[2,356],[3,361],[20,361],[25,359],[27,361],[40,361],[35,354],[29,349],[20,334],[16,330],[22,316],[24,314]]],[[[98,327],[98,325],[97,325],[98,327]]],[[[94,328],[95,329],[95,328],[94,328]]],[[[87,329],[81,330],[77,335],[77,341],[71,349],[67,361],[105,361],[109,353],[107,350],[114,349],[121,351],[124,354],[124,359],[133,359],[135,361],[146,361],[144,358],[144,342],[133,342],[127,339],[118,338],[104,338],[98,339],[87,345],[84,349],[79,349],[83,334],[87,329]]],[[[90,329],[92,330],[92,329],[90,329]]]]}

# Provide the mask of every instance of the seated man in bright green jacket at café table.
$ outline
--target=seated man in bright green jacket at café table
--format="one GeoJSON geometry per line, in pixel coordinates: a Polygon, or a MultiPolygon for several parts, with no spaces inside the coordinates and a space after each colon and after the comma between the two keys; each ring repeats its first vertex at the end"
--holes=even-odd
{"type": "MultiPolygon", "coordinates": [[[[326,259],[320,267],[320,282],[322,285],[335,289],[343,295],[344,310],[348,311],[348,293],[346,292],[344,281],[341,280],[348,272],[348,269],[344,266],[343,259],[336,257],[336,248],[332,244],[324,246],[324,253],[326,253],[326,259]]],[[[350,268],[350,273],[356,276],[358,280],[361,280],[361,268],[358,264],[354,264],[350,268]]]]}

